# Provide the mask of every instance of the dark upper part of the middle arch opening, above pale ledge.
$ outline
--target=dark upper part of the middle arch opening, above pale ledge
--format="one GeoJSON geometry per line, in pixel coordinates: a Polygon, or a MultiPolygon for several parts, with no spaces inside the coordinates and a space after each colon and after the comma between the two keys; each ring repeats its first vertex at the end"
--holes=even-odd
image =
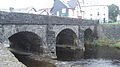
{"type": "Polygon", "coordinates": [[[56,37],[56,44],[63,45],[75,45],[75,40],[77,39],[76,33],[69,28],[63,29],[56,37]]]}

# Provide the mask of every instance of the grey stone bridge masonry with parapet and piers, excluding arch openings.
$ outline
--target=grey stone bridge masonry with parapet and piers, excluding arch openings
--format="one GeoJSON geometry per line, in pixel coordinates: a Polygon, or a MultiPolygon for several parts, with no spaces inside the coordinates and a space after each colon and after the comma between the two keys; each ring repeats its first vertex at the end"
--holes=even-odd
{"type": "Polygon", "coordinates": [[[25,13],[0,12],[0,42],[19,32],[33,32],[43,42],[44,52],[56,55],[56,37],[64,29],[70,29],[80,40],[79,47],[84,47],[84,31],[90,28],[95,32],[96,21],[56,16],[45,16],[25,13]],[[51,53],[52,52],[52,53],[51,53]]]}

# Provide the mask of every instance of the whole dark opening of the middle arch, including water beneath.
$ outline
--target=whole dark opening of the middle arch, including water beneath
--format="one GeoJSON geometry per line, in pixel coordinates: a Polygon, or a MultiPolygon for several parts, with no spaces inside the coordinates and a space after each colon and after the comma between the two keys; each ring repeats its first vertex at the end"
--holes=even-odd
{"type": "Polygon", "coordinates": [[[56,55],[58,60],[76,60],[80,57],[80,50],[76,49],[76,33],[71,29],[62,30],[56,38],[56,55]]]}

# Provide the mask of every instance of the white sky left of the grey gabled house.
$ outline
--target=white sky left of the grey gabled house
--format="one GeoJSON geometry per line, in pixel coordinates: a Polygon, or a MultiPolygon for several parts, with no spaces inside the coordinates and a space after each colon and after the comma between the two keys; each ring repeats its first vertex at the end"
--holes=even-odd
{"type": "Polygon", "coordinates": [[[48,8],[52,7],[54,0],[0,0],[0,8],[48,8]]]}

